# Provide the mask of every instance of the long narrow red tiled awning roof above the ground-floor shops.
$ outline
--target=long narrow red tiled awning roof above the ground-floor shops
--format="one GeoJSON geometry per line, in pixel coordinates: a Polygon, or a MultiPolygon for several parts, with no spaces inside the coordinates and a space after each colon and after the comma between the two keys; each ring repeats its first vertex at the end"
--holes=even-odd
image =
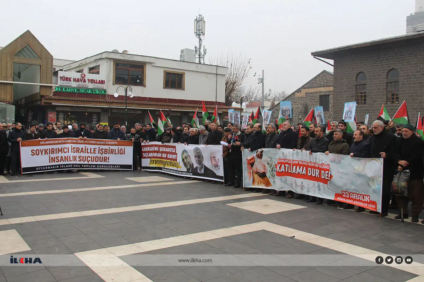
{"type": "MultiPolygon", "coordinates": [[[[119,103],[125,104],[123,99],[101,99],[101,98],[87,98],[87,97],[64,97],[64,96],[45,96],[45,100],[61,100],[61,101],[78,101],[78,102],[97,102],[97,103],[119,103]]],[[[162,107],[193,107],[202,108],[201,103],[199,104],[188,104],[188,103],[171,103],[171,102],[154,102],[154,101],[141,101],[141,100],[128,100],[128,105],[155,105],[162,107]]],[[[209,105],[210,107],[211,105],[209,105]]],[[[208,105],[206,106],[208,107],[208,105]]],[[[218,106],[219,109],[232,109],[233,107],[218,106]]]]}

